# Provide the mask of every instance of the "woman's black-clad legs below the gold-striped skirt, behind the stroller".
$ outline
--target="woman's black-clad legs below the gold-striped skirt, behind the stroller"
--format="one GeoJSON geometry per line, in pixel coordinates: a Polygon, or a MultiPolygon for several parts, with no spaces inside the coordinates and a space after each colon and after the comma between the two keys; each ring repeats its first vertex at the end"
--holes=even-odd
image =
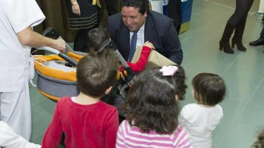
{"type": "Polygon", "coordinates": [[[87,33],[93,28],[94,27],[79,29],[79,32],[76,34],[75,41],[74,41],[74,47],[73,47],[74,51],[85,52],[88,50],[87,33]]]}

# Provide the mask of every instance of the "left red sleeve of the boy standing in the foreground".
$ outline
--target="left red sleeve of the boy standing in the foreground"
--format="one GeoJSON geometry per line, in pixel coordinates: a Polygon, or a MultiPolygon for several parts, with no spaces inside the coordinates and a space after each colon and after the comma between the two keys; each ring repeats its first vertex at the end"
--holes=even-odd
{"type": "Polygon", "coordinates": [[[52,121],[44,135],[41,148],[56,148],[61,140],[62,126],[58,103],[56,105],[52,121]]]}

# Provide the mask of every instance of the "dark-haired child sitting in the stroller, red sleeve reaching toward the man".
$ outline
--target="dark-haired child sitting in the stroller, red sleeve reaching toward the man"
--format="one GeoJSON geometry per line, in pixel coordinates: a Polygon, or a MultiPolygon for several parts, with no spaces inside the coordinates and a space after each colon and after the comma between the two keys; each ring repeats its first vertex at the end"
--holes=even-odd
{"type": "MultiPolygon", "coordinates": [[[[110,39],[109,33],[105,29],[101,28],[94,28],[90,30],[87,36],[87,44],[90,48],[90,51],[95,52],[99,50],[100,46],[105,40],[110,39]]],[[[135,73],[139,73],[144,70],[148,62],[151,49],[155,49],[154,45],[151,42],[146,41],[142,47],[138,61],[136,63],[127,62],[128,66],[131,67],[135,73]]],[[[122,71],[122,67],[120,67],[119,70],[122,71]]]]}

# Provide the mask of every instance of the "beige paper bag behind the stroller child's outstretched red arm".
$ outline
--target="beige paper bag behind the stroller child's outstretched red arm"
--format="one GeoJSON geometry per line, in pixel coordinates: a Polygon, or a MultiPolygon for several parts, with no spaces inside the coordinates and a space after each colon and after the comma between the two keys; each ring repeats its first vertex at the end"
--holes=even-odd
{"type": "MultiPolygon", "coordinates": [[[[137,62],[137,60],[140,57],[141,51],[142,51],[142,47],[137,46],[137,49],[135,51],[135,54],[134,54],[134,57],[133,57],[131,63],[137,62]]],[[[176,65],[176,63],[174,63],[170,59],[167,59],[162,54],[158,53],[158,51],[152,50],[149,54],[148,63],[146,65],[145,69],[151,69],[154,67],[159,67],[159,66],[162,67],[162,66],[168,66],[168,65],[176,65]]]]}

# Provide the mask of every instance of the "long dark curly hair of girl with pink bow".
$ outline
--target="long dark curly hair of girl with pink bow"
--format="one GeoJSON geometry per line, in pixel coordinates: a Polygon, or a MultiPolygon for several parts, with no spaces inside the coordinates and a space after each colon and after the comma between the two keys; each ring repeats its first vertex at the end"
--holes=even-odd
{"type": "Polygon", "coordinates": [[[122,106],[131,125],[142,132],[154,130],[159,134],[176,130],[179,115],[176,96],[183,100],[187,88],[184,69],[177,67],[173,76],[163,76],[161,67],[140,74],[122,106]]]}

